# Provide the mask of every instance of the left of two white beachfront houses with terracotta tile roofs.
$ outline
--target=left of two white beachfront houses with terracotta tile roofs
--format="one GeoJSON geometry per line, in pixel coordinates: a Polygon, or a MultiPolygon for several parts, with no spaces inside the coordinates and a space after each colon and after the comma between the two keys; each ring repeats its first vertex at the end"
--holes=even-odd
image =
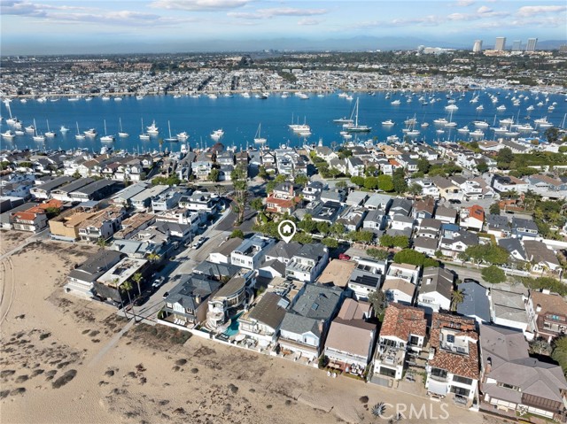
{"type": "Polygon", "coordinates": [[[395,303],[388,305],[374,358],[374,375],[400,380],[407,352],[419,354],[426,335],[423,309],[395,303]]]}

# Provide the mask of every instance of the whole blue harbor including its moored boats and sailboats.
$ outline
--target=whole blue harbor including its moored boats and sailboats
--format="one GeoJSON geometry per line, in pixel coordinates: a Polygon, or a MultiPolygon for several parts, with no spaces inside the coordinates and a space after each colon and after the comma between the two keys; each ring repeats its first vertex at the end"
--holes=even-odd
{"type": "Polygon", "coordinates": [[[74,98],[72,102],[4,100],[0,132],[8,149],[100,150],[102,143],[112,143],[114,149],[158,150],[160,140],[174,139],[190,140],[191,148],[206,148],[221,142],[242,149],[254,143],[268,147],[296,146],[317,143],[320,139],[324,145],[368,139],[435,143],[517,135],[537,137],[548,127],[564,125],[563,115],[567,112],[562,94],[513,89],[399,90],[355,96],[354,104],[343,92],[307,99],[274,92],[267,98],[217,96],[214,101],[209,96],[165,95],[121,96],[120,102],[109,102],[103,97],[89,97],[91,101],[86,101],[86,97],[74,98]],[[392,105],[392,98],[416,101],[392,105]],[[555,104],[555,109],[549,112],[547,104],[555,104]],[[483,106],[481,110],[480,106],[483,106]],[[346,111],[351,111],[349,118],[346,111]],[[357,124],[359,114],[364,125],[357,124]],[[116,119],[117,116],[120,118],[116,119]],[[292,116],[291,124],[288,124],[289,116],[292,116]],[[343,118],[337,119],[338,116],[343,118]],[[39,125],[32,128],[34,119],[39,125]],[[144,127],[144,120],[151,125],[144,127]],[[140,122],[139,137],[128,137],[139,131],[136,128],[140,122]],[[491,126],[489,122],[500,125],[491,126]],[[76,125],[77,135],[73,131],[50,130],[50,123],[57,128],[76,125]],[[90,129],[81,133],[78,123],[90,129]],[[23,126],[26,131],[14,132],[23,126]]]}

